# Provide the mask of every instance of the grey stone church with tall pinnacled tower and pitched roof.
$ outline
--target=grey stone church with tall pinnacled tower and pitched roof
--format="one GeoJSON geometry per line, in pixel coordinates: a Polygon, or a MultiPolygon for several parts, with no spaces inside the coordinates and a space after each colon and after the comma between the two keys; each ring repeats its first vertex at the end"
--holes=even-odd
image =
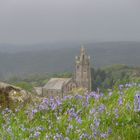
{"type": "Polygon", "coordinates": [[[63,97],[75,88],[83,88],[91,91],[91,66],[90,56],[84,47],[81,47],[80,55],[75,57],[75,71],[72,78],[51,78],[41,89],[42,96],[63,97]]]}

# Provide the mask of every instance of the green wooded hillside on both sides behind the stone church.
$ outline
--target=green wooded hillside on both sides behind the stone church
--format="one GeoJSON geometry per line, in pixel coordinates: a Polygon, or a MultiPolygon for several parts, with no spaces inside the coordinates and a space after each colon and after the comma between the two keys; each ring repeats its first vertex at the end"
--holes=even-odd
{"type": "MultiPolygon", "coordinates": [[[[11,76],[7,83],[14,84],[31,91],[34,86],[44,86],[51,77],[72,77],[71,72],[51,74],[23,74],[11,76]]],[[[110,65],[99,69],[92,69],[92,89],[108,89],[126,82],[140,82],[140,67],[127,65],[110,65]]]]}

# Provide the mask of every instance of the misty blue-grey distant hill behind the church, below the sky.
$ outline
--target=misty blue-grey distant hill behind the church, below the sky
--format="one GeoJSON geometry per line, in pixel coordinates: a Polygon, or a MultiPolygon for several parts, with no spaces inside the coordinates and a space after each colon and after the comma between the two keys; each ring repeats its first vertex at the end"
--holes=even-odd
{"type": "MultiPolygon", "coordinates": [[[[103,42],[85,45],[93,67],[112,64],[140,66],[140,42],[103,42]]],[[[0,77],[25,73],[54,73],[72,71],[78,43],[30,45],[17,49],[0,45],[0,77]],[[8,49],[10,48],[11,49],[8,49]]]]}

